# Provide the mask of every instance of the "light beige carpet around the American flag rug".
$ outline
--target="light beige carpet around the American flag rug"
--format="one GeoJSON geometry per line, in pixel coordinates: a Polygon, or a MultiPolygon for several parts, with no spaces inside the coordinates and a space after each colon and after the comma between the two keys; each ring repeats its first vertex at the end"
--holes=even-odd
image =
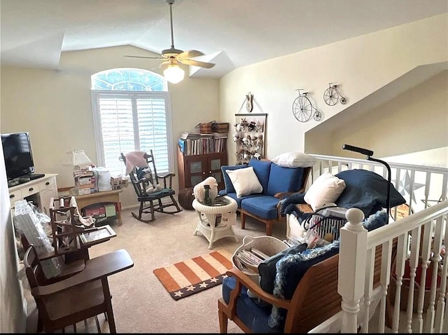
{"type": "MultiPolygon", "coordinates": [[[[183,259],[207,254],[209,242],[198,233],[197,214],[183,210],[177,214],[156,213],[156,220],[143,223],[134,219],[130,211],[123,211],[123,225],[112,222],[116,238],[90,248],[90,257],[117,249],[126,249],[134,260],[134,267],[111,275],[109,285],[113,296],[116,328],[120,333],[218,333],[218,298],[222,285],[174,301],[153,274],[153,269],[168,266],[183,259]]],[[[265,235],[265,224],[246,219],[246,229],[241,230],[239,216],[234,226],[239,242],[223,238],[214,242],[213,249],[235,252],[245,235],[265,235]]],[[[286,224],[274,226],[273,235],[283,240],[286,224]]],[[[35,303],[29,299],[29,312],[35,315],[35,303]]],[[[32,320],[32,317],[31,317],[32,320]]],[[[32,321],[31,321],[32,323],[32,321]]],[[[102,332],[109,332],[104,315],[99,316],[102,332]]],[[[89,320],[89,331],[96,332],[94,321],[89,320]]],[[[33,329],[34,331],[35,329],[33,329]]],[[[78,332],[85,331],[78,324],[78,332]]],[[[68,328],[66,332],[72,332],[68,328]]],[[[241,333],[239,327],[229,322],[230,333],[241,333]]]]}

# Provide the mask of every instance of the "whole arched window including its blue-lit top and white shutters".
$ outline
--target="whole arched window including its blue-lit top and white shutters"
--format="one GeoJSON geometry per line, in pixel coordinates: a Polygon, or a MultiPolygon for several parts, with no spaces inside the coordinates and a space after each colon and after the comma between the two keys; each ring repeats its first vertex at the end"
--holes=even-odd
{"type": "Polygon", "coordinates": [[[158,172],[174,170],[166,79],[144,69],[109,69],[91,79],[98,164],[125,175],[120,153],[153,149],[158,172]]]}

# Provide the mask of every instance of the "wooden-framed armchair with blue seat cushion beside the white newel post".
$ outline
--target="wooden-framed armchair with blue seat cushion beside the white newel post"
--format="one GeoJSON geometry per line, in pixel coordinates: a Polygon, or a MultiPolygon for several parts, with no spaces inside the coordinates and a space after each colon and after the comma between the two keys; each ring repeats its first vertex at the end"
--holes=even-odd
{"type": "MultiPolygon", "coordinates": [[[[396,241],[393,242],[393,254],[396,250],[396,241]]],[[[374,287],[380,284],[381,251],[379,246],[375,250],[374,261],[374,287]]],[[[271,313],[270,307],[260,308],[248,297],[247,289],[260,297],[265,303],[279,306],[286,310],[286,320],[281,329],[269,329],[269,332],[283,332],[304,334],[327,320],[341,310],[342,298],[337,293],[339,254],[314,264],[304,273],[295,288],[291,299],[281,299],[265,292],[248,275],[237,268],[227,271],[223,285],[234,280],[230,294],[218,298],[218,318],[221,333],[227,333],[228,320],[232,320],[244,332],[267,332],[254,330],[253,327],[267,323],[266,319],[271,313]]],[[[232,285],[229,285],[229,287],[232,285]]],[[[223,292],[224,293],[224,292],[223,292]]]]}

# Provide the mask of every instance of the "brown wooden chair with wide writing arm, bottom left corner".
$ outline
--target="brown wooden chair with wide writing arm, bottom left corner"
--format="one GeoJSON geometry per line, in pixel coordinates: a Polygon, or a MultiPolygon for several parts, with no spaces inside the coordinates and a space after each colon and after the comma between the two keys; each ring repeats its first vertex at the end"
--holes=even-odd
{"type": "Polygon", "coordinates": [[[108,277],[134,266],[125,249],[90,259],[80,273],[50,285],[39,284],[43,268],[33,245],[24,264],[38,310],[37,331],[53,332],[106,313],[109,330],[116,333],[108,277]]]}

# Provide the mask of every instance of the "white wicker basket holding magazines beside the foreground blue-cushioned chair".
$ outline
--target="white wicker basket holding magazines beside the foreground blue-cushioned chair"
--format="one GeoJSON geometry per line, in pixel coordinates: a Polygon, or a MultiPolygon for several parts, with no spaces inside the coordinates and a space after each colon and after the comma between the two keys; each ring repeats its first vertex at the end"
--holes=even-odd
{"type": "Polygon", "coordinates": [[[236,249],[232,255],[232,264],[235,268],[239,268],[239,270],[248,275],[251,278],[251,280],[258,283],[259,282],[258,272],[251,272],[246,269],[240,268],[239,266],[237,266],[237,262],[235,261],[238,252],[240,252],[242,249],[246,250],[251,249],[252,247],[260,250],[260,252],[263,252],[268,256],[273,256],[274,254],[278,254],[284,249],[287,249],[288,245],[282,240],[279,240],[278,238],[274,238],[268,235],[258,236],[255,238],[252,236],[244,236],[243,244],[240,247],[238,247],[238,249],[236,249]]]}

